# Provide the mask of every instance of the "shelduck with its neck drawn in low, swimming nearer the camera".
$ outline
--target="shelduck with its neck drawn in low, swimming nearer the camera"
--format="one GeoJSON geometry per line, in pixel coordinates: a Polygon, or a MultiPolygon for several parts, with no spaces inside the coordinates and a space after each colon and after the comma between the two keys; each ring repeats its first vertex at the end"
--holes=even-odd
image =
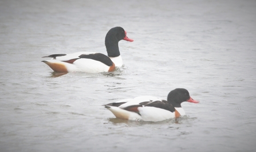
{"type": "Polygon", "coordinates": [[[163,121],[178,118],[186,113],[181,104],[184,101],[198,103],[183,88],[176,88],[167,96],[167,101],[153,96],[128,98],[104,105],[117,118],[134,121],[163,121]]]}

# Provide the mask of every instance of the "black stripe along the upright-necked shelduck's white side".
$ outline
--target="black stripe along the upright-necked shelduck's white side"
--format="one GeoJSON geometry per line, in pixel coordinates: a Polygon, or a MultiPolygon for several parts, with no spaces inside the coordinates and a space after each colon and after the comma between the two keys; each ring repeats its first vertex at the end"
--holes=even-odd
{"type": "Polygon", "coordinates": [[[79,57],[80,58],[85,58],[85,59],[97,60],[97,61],[100,61],[100,62],[108,65],[109,67],[113,65],[112,60],[107,55],[100,54],[100,53],[97,53],[97,54],[83,54],[83,55],[80,55],[79,57]]]}

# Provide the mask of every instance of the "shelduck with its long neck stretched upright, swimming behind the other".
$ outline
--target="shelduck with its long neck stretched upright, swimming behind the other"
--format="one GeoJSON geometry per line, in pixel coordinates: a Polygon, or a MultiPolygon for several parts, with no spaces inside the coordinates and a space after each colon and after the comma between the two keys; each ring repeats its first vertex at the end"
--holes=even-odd
{"type": "Polygon", "coordinates": [[[53,54],[44,57],[53,59],[44,60],[45,64],[55,72],[112,72],[116,67],[123,65],[118,43],[120,40],[133,42],[127,37],[127,32],[122,27],[113,27],[105,37],[107,55],[96,52],[76,52],[73,54],[53,54]]]}

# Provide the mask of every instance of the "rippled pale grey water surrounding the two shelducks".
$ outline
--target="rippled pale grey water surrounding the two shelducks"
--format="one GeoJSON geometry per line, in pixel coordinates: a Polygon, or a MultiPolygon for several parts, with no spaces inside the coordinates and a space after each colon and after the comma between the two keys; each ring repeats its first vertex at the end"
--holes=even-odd
{"type": "Polygon", "coordinates": [[[256,1],[0,1],[0,151],[255,151],[256,1]],[[123,67],[57,75],[41,57],[107,54],[123,67]],[[102,105],[186,88],[199,104],[163,122],[102,105]]]}

